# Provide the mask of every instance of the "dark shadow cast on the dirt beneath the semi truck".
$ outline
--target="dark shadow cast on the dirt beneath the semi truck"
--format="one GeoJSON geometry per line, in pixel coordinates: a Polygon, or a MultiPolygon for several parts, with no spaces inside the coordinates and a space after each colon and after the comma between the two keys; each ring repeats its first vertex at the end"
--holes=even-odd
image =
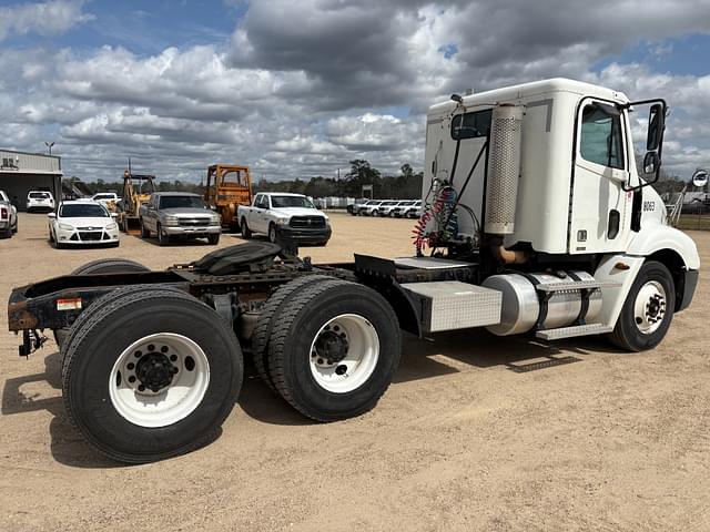
{"type": "MultiPolygon", "coordinates": [[[[433,335],[424,340],[405,335],[402,361],[393,381],[405,383],[456,374],[462,371],[460,365],[471,368],[503,366],[514,372],[524,374],[584,361],[584,358],[578,356],[588,355],[590,351],[618,352],[600,338],[576,338],[568,342],[541,344],[526,337],[497,337],[484,329],[450,331],[433,335]]],[[[251,360],[247,360],[244,383],[237,401],[247,416],[271,424],[317,424],[273,393],[261,381],[250,362],[251,360]]],[[[49,383],[54,390],[61,390],[59,352],[44,358],[44,372],[7,379],[0,412],[3,416],[38,410],[50,412],[50,448],[53,458],[60,463],[89,469],[126,467],[104,457],[83,440],[69,421],[61,397],[43,397],[40,392],[28,393],[22,389],[37,388],[36,383],[43,382],[49,383]]],[[[221,431],[215,438],[220,434],[221,431]]]]}

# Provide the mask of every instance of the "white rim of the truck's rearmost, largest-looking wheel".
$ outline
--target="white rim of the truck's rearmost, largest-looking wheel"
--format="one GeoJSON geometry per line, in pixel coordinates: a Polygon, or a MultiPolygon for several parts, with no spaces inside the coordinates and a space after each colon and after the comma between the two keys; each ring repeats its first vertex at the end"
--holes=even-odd
{"type": "Polygon", "coordinates": [[[202,348],[182,335],[159,332],[134,341],[121,354],[109,376],[109,396],[128,421],[166,427],[190,416],[209,385],[210,364],[202,348]],[[172,379],[164,385],[168,369],[172,379]],[[159,376],[163,379],[160,385],[159,376]]]}

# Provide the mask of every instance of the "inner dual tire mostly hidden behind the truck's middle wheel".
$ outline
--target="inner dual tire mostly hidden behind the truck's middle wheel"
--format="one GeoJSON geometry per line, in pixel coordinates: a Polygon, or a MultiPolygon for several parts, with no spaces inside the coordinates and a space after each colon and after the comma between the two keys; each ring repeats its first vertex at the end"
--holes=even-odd
{"type": "Polygon", "coordinates": [[[288,299],[296,291],[303,289],[305,286],[326,282],[337,283],[337,279],[325,275],[306,275],[303,277],[298,277],[286,283],[285,285],[281,285],[268,297],[268,299],[266,299],[266,303],[262,307],[262,311],[256,319],[254,332],[252,334],[252,359],[254,360],[254,366],[256,367],[256,372],[258,374],[258,376],[275,393],[278,393],[278,390],[276,390],[276,387],[272,382],[271,376],[268,375],[268,339],[272,335],[274,324],[276,323],[276,320],[282,319],[281,308],[283,307],[286,299],[288,299]]]}

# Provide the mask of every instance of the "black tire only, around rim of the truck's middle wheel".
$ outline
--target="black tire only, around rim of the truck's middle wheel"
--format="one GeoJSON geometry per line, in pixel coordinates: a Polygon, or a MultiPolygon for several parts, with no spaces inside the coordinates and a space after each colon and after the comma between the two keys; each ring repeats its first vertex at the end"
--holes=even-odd
{"type": "Polygon", "coordinates": [[[310,285],[280,309],[268,344],[270,376],[283,398],[304,416],[318,421],[351,418],[371,410],[386,391],[400,346],[397,317],[379,294],[355,283],[310,285]],[[379,355],[357,388],[333,392],[316,382],[311,348],[322,327],[342,315],[355,315],[374,328],[379,355]]]}

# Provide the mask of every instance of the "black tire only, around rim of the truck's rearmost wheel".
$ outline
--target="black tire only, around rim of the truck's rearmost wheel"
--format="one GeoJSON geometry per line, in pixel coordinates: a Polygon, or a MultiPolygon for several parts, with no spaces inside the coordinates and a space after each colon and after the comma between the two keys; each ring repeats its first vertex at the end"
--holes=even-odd
{"type": "Polygon", "coordinates": [[[212,308],[184,293],[142,287],[114,295],[82,321],[68,342],[62,389],[70,420],[93,447],[121,462],[144,463],[211,441],[234,406],[242,377],[239,341],[212,308]],[[139,426],[119,413],[109,389],[120,383],[110,376],[129,346],[161,332],[181,335],[204,351],[209,383],[184,418],[139,426]]]}

